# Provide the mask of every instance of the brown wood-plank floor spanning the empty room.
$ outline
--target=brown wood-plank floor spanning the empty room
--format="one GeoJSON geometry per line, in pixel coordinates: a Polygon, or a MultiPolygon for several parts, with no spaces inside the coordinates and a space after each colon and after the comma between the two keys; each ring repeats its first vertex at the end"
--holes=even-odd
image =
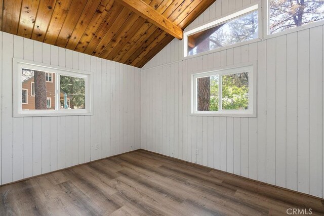
{"type": "Polygon", "coordinates": [[[5,185],[0,195],[0,215],[324,214],[322,199],[144,150],[5,185]]]}

